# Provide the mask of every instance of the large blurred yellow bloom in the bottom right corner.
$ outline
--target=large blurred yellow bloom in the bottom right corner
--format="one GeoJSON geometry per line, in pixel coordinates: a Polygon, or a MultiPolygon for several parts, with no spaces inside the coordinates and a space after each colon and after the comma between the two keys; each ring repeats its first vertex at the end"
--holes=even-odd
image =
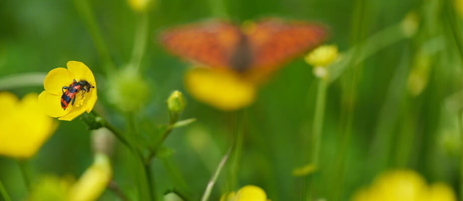
{"type": "Polygon", "coordinates": [[[455,201],[450,187],[438,183],[428,187],[413,170],[395,170],[379,175],[366,188],[358,190],[352,201],[455,201]]]}

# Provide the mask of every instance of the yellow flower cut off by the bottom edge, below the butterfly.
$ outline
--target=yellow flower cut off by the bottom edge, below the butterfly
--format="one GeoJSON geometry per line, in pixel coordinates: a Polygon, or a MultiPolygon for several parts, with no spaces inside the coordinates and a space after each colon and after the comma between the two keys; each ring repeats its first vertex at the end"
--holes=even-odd
{"type": "Polygon", "coordinates": [[[230,192],[223,194],[220,201],[267,201],[265,191],[255,185],[243,186],[237,193],[230,192]]]}

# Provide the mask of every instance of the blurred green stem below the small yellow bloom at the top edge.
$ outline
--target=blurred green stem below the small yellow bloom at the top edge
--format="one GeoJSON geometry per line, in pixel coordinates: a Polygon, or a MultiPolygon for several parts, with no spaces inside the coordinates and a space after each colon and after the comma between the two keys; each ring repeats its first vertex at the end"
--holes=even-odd
{"type": "Polygon", "coordinates": [[[130,59],[130,67],[135,71],[138,71],[140,68],[141,59],[146,49],[146,40],[148,38],[148,13],[142,12],[140,15],[138,26],[135,31],[132,58],[130,59]]]}

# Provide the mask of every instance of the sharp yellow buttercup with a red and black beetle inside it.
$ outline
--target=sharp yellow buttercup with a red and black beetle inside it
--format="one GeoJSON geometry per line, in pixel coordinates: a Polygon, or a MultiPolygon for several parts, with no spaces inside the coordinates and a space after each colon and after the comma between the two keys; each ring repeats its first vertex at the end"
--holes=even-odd
{"type": "Polygon", "coordinates": [[[84,63],[79,61],[68,61],[66,68],[55,68],[48,72],[43,87],[45,88],[39,95],[39,104],[45,114],[51,117],[59,117],[59,120],[71,121],[85,111],[90,113],[95,102],[97,102],[97,84],[92,71],[84,63]],[[92,88],[90,90],[79,90],[65,110],[61,107],[61,95],[63,87],[68,87],[73,80],[78,82],[87,81],[92,88]],[[95,88],[93,88],[95,87],[95,88]]]}

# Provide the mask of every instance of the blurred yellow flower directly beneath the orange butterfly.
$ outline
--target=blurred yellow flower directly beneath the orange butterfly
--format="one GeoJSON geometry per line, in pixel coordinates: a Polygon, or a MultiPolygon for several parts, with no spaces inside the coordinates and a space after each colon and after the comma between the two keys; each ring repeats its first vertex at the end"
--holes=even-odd
{"type": "Polygon", "coordinates": [[[185,75],[190,94],[200,102],[223,111],[249,106],[256,96],[256,84],[230,70],[194,68],[185,75]]]}

